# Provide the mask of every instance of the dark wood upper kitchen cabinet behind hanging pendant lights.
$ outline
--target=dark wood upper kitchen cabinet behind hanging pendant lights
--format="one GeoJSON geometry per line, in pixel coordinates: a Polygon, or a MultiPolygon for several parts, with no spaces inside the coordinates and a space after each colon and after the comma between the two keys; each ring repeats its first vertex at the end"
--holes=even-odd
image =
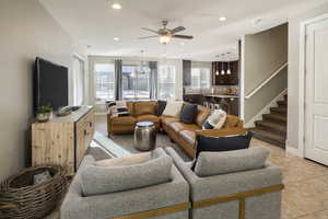
{"type": "Polygon", "coordinates": [[[239,61],[230,61],[230,64],[225,61],[212,62],[212,77],[213,85],[237,85],[239,83],[239,61]],[[231,74],[226,73],[229,66],[231,74]],[[222,69],[224,74],[221,73],[222,69]],[[219,74],[216,74],[218,71],[219,74]]]}

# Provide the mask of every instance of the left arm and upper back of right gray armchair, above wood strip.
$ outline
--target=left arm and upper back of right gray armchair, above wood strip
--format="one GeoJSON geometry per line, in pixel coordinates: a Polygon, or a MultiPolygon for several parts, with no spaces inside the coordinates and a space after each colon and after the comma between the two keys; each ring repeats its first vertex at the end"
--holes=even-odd
{"type": "Polygon", "coordinates": [[[173,149],[166,148],[165,150],[187,178],[192,201],[224,197],[282,184],[280,169],[270,164],[263,169],[199,177],[191,171],[191,165],[184,162],[173,149]]]}

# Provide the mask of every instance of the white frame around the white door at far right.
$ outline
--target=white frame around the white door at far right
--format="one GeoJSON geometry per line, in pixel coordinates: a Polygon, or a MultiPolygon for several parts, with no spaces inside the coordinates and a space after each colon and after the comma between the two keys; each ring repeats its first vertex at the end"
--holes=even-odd
{"type": "Polygon", "coordinates": [[[328,13],[305,20],[300,25],[300,64],[298,64],[298,149],[293,151],[295,155],[305,158],[305,68],[306,68],[306,26],[321,20],[327,20],[328,13]]]}

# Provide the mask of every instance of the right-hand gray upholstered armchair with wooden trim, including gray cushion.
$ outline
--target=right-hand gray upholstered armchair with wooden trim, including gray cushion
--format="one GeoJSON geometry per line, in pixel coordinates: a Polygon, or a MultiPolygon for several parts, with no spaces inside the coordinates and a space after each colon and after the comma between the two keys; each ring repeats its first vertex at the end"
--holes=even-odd
{"type": "Polygon", "coordinates": [[[165,150],[190,185],[190,218],[280,219],[282,176],[266,162],[265,149],[202,152],[195,172],[172,148],[165,150]]]}

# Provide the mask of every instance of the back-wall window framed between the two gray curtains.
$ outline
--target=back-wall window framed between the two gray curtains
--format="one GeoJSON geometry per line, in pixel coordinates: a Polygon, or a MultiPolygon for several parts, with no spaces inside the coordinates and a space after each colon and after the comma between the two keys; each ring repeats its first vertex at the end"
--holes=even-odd
{"type": "Polygon", "coordinates": [[[140,71],[140,66],[122,66],[122,99],[149,100],[150,99],[150,72],[140,71]]]}

